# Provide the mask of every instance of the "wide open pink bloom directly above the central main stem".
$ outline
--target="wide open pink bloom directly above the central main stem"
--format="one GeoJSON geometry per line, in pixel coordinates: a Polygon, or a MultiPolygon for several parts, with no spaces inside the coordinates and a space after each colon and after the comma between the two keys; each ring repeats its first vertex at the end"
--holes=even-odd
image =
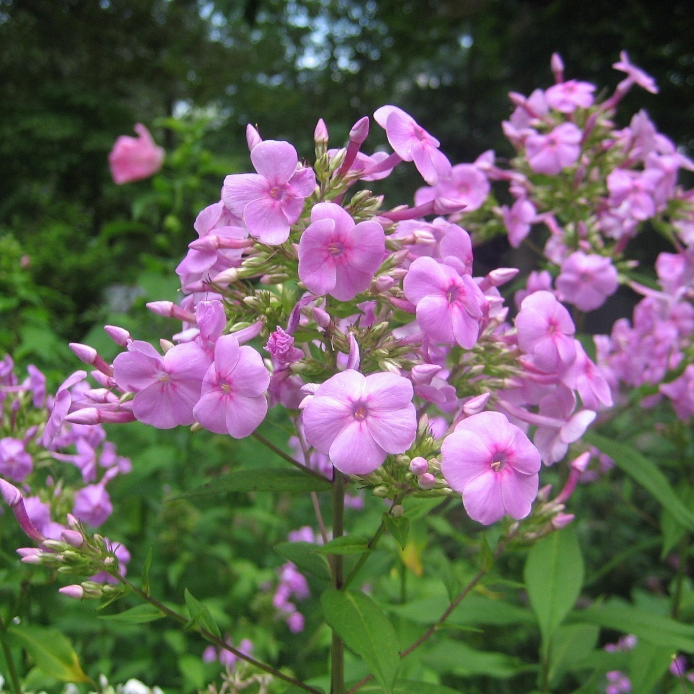
{"type": "Polygon", "coordinates": [[[303,409],[306,440],[347,475],[368,475],[414,441],[412,383],[395,373],[348,369],[319,385],[303,409]]]}

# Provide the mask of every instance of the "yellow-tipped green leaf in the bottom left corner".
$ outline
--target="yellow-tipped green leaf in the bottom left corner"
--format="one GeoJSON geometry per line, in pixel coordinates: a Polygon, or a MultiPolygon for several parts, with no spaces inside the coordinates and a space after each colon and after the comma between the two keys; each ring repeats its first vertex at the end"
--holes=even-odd
{"type": "Polygon", "coordinates": [[[92,682],[80,667],[71,643],[58,629],[10,627],[8,632],[26,648],[37,668],[60,682],[92,682]]]}

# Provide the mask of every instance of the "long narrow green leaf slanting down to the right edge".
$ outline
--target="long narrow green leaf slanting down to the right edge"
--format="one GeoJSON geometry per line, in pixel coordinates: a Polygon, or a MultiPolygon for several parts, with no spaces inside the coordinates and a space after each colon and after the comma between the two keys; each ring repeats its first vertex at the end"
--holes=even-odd
{"type": "Polygon", "coordinates": [[[584,439],[609,455],[627,475],[650,491],[677,523],[694,532],[694,514],[679,499],[667,477],[648,458],[625,443],[612,441],[595,432],[586,432],[584,439]]]}

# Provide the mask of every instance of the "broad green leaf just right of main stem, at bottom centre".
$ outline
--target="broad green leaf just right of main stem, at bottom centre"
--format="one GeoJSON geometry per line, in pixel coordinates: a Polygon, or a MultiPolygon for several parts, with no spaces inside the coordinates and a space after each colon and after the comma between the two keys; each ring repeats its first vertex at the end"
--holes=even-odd
{"type": "Polygon", "coordinates": [[[329,589],[321,595],[321,606],[330,628],[391,694],[400,669],[398,637],[378,605],[364,593],[329,589]]]}

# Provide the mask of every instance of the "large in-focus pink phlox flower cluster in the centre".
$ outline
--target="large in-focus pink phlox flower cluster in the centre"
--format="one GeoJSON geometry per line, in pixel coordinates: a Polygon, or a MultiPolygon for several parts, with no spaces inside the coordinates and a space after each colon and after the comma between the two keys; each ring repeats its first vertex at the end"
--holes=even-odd
{"type": "MultiPolygon", "coordinates": [[[[589,90],[568,92],[563,108],[572,98],[585,108],[589,90]]],[[[493,157],[452,167],[399,108],[374,118],[392,154],[362,151],[368,117],[343,149],[328,149],[319,121],[313,166],[249,127],[256,173],[227,176],[198,215],[177,269],[180,305],[149,304],[180,331],[160,352],[107,326],[124,348],[113,364],[75,346],[103,389],[65,398],[54,425],[137,419],[243,438],[283,407],[296,458],[314,473],[359,477],[390,498],[458,493],[485,524],[528,516],[541,461],[564,458],[611,405],[609,387],[549,287],[528,292],[511,321],[498,287],[517,270],[475,276],[473,241],[455,219],[489,194],[493,157]],[[350,192],[403,162],[431,186],[412,207],[350,192]]]]}

